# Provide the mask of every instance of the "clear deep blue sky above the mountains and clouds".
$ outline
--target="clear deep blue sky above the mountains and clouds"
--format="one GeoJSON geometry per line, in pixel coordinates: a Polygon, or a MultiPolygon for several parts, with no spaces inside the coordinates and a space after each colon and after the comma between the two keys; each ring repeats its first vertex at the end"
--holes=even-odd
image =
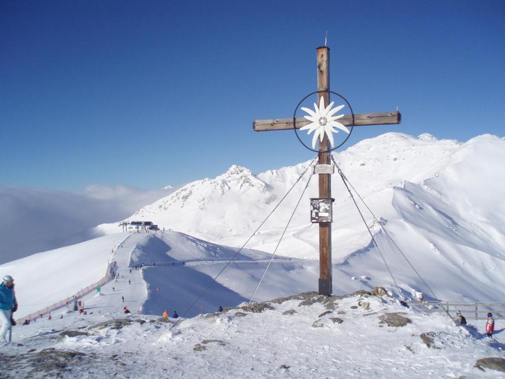
{"type": "Polygon", "coordinates": [[[74,191],[253,173],[313,157],[292,116],[316,90],[328,31],[331,89],[355,128],[466,141],[505,135],[505,2],[0,2],[0,184],[74,191]]]}

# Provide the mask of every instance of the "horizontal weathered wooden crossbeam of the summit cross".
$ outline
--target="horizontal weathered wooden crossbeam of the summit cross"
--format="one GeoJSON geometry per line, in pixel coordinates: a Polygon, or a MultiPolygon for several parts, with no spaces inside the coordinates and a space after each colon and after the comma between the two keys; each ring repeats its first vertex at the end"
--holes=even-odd
{"type": "MultiPolygon", "coordinates": [[[[350,115],[345,115],[344,117],[337,120],[345,126],[350,126],[352,124],[352,118],[350,115]]],[[[400,112],[382,112],[382,113],[361,113],[354,115],[354,126],[365,126],[365,125],[391,125],[399,124],[401,122],[400,112]]],[[[296,118],[296,129],[301,128],[304,125],[311,123],[304,117],[296,118]]],[[[287,130],[293,128],[292,118],[278,118],[274,120],[255,120],[252,122],[252,130],[255,131],[267,131],[267,130],[287,130]]]]}

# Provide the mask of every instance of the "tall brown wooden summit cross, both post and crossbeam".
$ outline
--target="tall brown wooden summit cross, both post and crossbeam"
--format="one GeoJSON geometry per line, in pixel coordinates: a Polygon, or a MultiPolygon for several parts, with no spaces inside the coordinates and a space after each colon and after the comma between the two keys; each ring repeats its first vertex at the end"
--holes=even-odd
{"type": "MultiPolygon", "coordinates": [[[[326,46],[317,48],[317,86],[318,103],[324,99],[324,106],[327,107],[330,102],[330,49],[326,46]]],[[[354,125],[387,125],[399,124],[401,115],[399,112],[383,113],[362,113],[354,115],[354,125]]],[[[296,118],[296,128],[309,124],[305,118],[296,118]]],[[[345,126],[352,125],[352,116],[345,115],[338,120],[345,126]]],[[[252,123],[252,129],[255,131],[266,130],[286,130],[293,129],[292,118],[282,118],[274,120],[255,120],[252,123]]],[[[319,139],[319,138],[318,138],[319,139]]],[[[321,153],[330,150],[328,136],[325,134],[322,141],[319,142],[319,164],[331,164],[330,154],[321,153]]],[[[319,174],[319,197],[324,199],[331,198],[331,174],[319,174]]],[[[319,294],[331,295],[331,222],[319,224],[319,294]]]]}

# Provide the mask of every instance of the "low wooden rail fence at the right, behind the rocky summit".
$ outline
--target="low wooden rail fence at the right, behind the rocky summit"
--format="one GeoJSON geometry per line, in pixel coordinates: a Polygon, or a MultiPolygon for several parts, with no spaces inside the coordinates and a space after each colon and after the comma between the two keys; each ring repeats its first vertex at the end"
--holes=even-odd
{"type": "Polygon", "coordinates": [[[440,307],[441,304],[451,316],[456,316],[456,312],[461,311],[467,320],[485,320],[487,313],[491,312],[494,319],[505,318],[505,303],[456,303],[450,301],[409,301],[412,308],[424,312],[442,312],[445,310],[440,307]]]}

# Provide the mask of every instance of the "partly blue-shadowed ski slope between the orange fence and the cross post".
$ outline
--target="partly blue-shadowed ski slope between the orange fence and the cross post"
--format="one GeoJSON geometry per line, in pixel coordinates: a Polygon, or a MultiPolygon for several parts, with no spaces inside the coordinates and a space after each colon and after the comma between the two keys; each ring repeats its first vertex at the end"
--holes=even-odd
{"type": "MultiPolygon", "coordinates": [[[[131,233],[113,255],[119,278],[102,286],[99,294],[85,296],[85,309],[122,313],[126,306],[132,313],[161,315],[167,309],[170,315],[174,311],[182,315],[237,250],[174,231],[131,233]],[[142,269],[135,270],[140,264],[142,269]]],[[[242,250],[185,316],[248,301],[269,259],[270,254],[242,250]]],[[[276,257],[255,299],[312,290],[318,267],[316,261],[276,257]]]]}

